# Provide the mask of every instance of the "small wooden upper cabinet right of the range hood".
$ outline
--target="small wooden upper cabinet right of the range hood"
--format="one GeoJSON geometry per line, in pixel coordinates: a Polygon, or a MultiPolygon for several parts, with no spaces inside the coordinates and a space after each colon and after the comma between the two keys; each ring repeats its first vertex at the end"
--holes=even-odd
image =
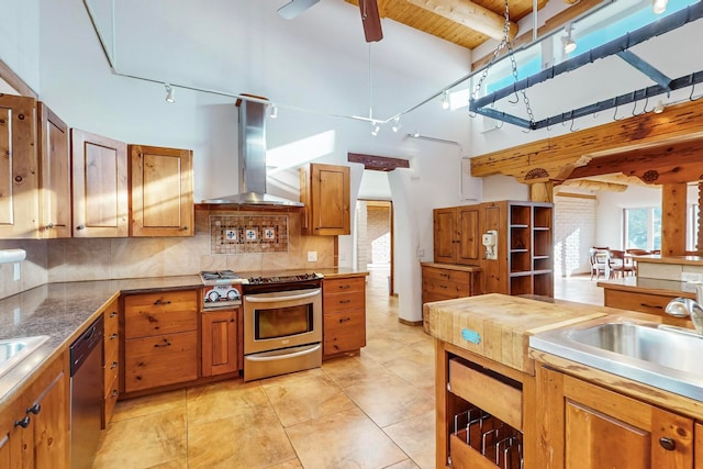
{"type": "Polygon", "coordinates": [[[300,171],[300,200],[303,210],[302,234],[348,235],[350,224],[349,167],[311,164],[300,171]]]}

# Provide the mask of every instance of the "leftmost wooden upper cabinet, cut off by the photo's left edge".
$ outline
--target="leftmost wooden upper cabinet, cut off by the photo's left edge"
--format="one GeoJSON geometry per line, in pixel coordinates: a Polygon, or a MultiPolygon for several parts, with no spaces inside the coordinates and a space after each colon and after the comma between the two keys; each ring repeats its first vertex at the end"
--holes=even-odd
{"type": "Polygon", "coordinates": [[[0,237],[38,236],[36,101],[0,94],[0,237]]]}

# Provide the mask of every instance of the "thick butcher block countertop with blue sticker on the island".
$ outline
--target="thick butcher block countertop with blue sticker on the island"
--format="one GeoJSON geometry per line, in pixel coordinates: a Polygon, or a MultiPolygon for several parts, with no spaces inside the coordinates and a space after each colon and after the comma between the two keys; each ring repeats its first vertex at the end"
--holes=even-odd
{"type": "Polygon", "coordinates": [[[436,301],[423,309],[433,337],[533,376],[531,335],[607,314],[599,306],[501,293],[436,301]]]}

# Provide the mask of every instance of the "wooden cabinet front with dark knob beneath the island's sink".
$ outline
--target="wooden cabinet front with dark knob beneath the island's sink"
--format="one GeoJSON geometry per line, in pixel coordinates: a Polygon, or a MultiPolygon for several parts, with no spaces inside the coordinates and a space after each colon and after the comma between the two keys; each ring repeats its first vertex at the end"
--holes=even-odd
{"type": "Polygon", "coordinates": [[[545,367],[538,367],[537,381],[543,435],[536,467],[698,467],[694,425],[700,425],[692,418],[545,367]]]}

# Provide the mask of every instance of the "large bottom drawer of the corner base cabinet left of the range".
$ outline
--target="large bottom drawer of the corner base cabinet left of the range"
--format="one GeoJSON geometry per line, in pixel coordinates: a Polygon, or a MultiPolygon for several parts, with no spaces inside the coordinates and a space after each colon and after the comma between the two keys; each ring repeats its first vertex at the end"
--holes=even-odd
{"type": "Polygon", "coordinates": [[[124,390],[156,388],[198,378],[196,331],[125,340],[124,390]]]}

